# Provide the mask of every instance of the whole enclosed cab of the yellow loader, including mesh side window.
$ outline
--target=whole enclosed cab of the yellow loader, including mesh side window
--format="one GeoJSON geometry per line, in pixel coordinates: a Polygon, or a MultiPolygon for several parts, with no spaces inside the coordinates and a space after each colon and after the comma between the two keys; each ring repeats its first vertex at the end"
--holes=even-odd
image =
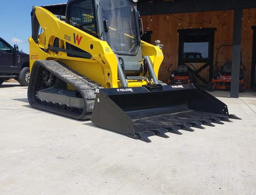
{"type": "MultiPolygon", "coordinates": [[[[142,73],[139,12],[131,0],[69,0],[66,22],[108,43],[126,76],[142,73]]],[[[79,49],[79,48],[74,48],[79,49]]]]}

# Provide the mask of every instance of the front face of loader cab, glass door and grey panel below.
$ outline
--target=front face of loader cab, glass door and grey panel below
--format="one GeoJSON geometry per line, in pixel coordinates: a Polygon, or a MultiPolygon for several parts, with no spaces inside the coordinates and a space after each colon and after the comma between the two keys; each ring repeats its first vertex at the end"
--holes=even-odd
{"type": "Polygon", "coordinates": [[[122,58],[127,76],[142,72],[139,12],[131,0],[101,0],[103,40],[122,58]]]}

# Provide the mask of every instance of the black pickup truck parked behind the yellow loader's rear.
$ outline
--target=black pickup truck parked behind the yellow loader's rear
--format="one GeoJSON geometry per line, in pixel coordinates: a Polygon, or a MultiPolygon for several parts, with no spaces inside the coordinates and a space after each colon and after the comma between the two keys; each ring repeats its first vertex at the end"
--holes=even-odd
{"type": "Polygon", "coordinates": [[[0,85],[14,78],[21,86],[28,86],[29,77],[29,55],[19,51],[18,45],[12,47],[0,37],[0,85]]]}

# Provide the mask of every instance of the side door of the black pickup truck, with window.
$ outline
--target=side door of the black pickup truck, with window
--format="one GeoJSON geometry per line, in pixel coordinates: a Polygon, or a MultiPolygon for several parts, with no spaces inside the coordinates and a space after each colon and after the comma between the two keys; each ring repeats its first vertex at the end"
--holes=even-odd
{"type": "Polygon", "coordinates": [[[0,39],[0,72],[15,72],[15,54],[11,45],[0,39]]]}

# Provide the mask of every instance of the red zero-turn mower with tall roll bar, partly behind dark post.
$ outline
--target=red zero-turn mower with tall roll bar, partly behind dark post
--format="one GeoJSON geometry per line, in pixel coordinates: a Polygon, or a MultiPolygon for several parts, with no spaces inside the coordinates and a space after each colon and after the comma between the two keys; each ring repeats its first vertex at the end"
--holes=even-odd
{"type": "MultiPolygon", "coordinates": [[[[221,45],[218,48],[215,65],[213,66],[213,69],[214,69],[213,79],[212,79],[212,82],[208,84],[209,92],[212,92],[215,89],[230,90],[230,87],[231,87],[232,62],[230,61],[225,62],[224,65],[221,66],[221,71],[219,71],[219,67],[218,67],[218,62],[217,62],[218,52],[222,46],[232,46],[232,45],[221,45]]],[[[244,92],[244,90],[246,89],[246,85],[244,83],[244,71],[245,71],[245,66],[242,63],[242,54],[241,54],[240,73],[239,73],[239,92],[244,92]]]]}

